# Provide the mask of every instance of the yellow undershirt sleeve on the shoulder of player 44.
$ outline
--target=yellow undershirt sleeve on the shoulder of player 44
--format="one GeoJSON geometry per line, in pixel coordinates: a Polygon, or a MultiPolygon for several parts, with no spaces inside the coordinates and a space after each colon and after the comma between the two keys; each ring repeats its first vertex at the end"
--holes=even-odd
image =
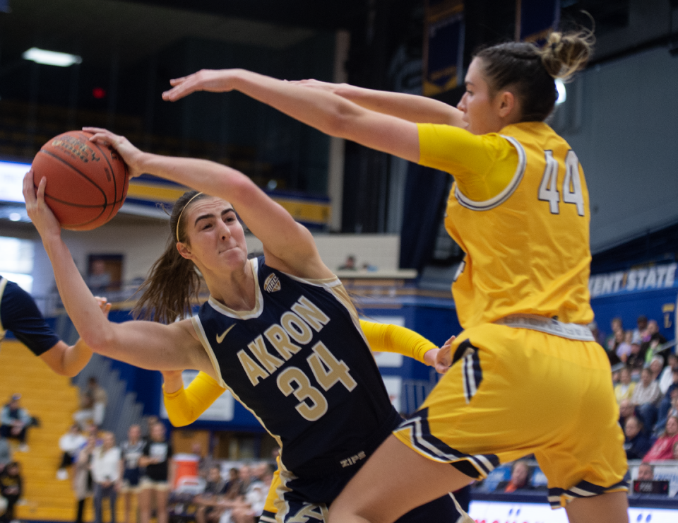
{"type": "Polygon", "coordinates": [[[518,151],[500,134],[475,135],[442,124],[417,124],[421,165],[449,172],[464,196],[487,201],[503,191],[518,168],[518,151]]]}

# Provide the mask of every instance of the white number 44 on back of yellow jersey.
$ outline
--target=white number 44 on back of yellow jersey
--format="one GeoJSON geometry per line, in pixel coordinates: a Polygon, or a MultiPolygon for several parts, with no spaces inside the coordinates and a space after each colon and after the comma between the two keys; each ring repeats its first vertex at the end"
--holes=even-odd
{"type": "MultiPolygon", "coordinates": [[[[552,214],[560,214],[558,160],[553,158],[553,151],[544,151],[544,155],[546,168],[539,186],[539,199],[549,202],[552,214]]],[[[579,180],[579,160],[574,151],[568,151],[565,156],[565,179],[562,192],[564,203],[575,204],[578,215],[584,216],[584,194],[581,192],[581,180],[579,180]]]]}

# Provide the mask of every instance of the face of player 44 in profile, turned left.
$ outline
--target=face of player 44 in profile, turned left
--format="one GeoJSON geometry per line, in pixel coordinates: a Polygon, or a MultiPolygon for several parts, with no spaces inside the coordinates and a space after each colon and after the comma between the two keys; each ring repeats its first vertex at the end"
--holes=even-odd
{"type": "Polygon", "coordinates": [[[465,78],[466,92],[458,103],[458,109],[464,113],[462,119],[466,129],[473,134],[499,132],[504,127],[499,118],[498,97],[492,97],[489,84],[482,71],[482,61],[474,58],[465,78]]]}

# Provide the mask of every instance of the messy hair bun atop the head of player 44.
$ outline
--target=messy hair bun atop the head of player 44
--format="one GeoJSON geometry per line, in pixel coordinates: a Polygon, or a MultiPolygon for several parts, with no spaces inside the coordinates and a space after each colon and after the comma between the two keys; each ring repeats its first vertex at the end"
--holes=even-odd
{"type": "Polygon", "coordinates": [[[578,33],[549,34],[539,54],[548,74],[553,78],[568,78],[583,69],[593,53],[593,31],[584,29],[578,33]]]}

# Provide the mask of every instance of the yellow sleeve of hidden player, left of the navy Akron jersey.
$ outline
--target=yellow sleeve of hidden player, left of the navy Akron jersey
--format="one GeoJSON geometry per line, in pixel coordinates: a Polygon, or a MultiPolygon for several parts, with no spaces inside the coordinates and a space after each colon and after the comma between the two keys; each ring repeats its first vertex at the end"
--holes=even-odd
{"type": "Polygon", "coordinates": [[[190,425],[225,390],[213,377],[205,372],[198,372],[198,375],[191,382],[188,389],[182,387],[177,392],[167,394],[163,387],[165,409],[167,409],[169,423],[172,423],[175,427],[190,425]]]}

